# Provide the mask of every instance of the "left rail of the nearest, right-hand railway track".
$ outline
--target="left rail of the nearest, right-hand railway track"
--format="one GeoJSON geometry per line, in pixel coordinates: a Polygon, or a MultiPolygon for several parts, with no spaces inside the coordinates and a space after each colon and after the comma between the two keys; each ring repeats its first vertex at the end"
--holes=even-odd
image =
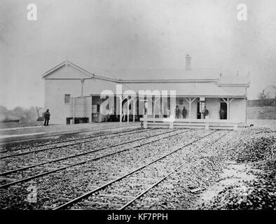
{"type": "MultiPolygon", "coordinates": [[[[217,132],[217,131],[214,131],[214,132],[217,132]]],[[[127,174],[125,174],[125,175],[123,175],[123,176],[120,176],[120,177],[118,177],[117,179],[115,179],[115,180],[113,180],[113,181],[109,181],[108,183],[104,184],[103,186],[99,186],[99,188],[96,188],[96,189],[94,189],[94,190],[89,191],[88,193],[85,193],[85,194],[83,194],[83,195],[81,195],[81,196],[79,196],[79,197],[76,197],[75,199],[73,199],[73,200],[71,200],[71,201],[69,201],[69,202],[66,202],[66,203],[62,204],[62,205],[60,205],[59,207],[56,207],[56,208],[53,209],[53,210],[66,208],[66,207],[68,207],[69,205],[74,204],[74,203],[78,202],[79,200],[82,200],[83,198],[88,197],[89,195],[92,195],[93,193],[96,193],[97,191],[106,188],[107,186],[110,186],[112,183],[115,183],[115,182],[117,182],[117,181],[120,181],[121,179],[125,178],[126,176],[130,176],[131,174],[134,174],[135,172],[137,172],[137,171],[139,171],[139,170],[141,170],[141,169],[144,169],[145,167],[148,167],[149,165],[151,165],[151,164],[153,164],[153,163],[155,163],[155,162],[158,162],[159,160],[162,160],[163,158],[166,158],[166,157],[169,156],[169,155],[172,155],[172,153],[175,153],[175,152],[181,150],[182,148],[184,148],[184,147],[186,147],[186,146],[190,146],[191,144],[195,143],[196,141],[200,141],[201,139],[203,139],[203,138],[209,136],[210,134],[213,134],[214,132],[211,132],[211,133],[209,133],[209,134],[205,134],[203,137],[200,137],[200,138],[198,138],[198,139],[195,139],[194,141],[191,141],[191,142],[188,143],[188,144],[184,144],[184,146],[181,146],[181,147],[177,148],[176,150],[174,150],[174,151],[172,151],[172,152],[170,152],[170,153],[167,153],[166,155],[163,155],[163,156],[161,156],[160,158],[157,158],[156,160],[153,160],[153,161],[147,163],[146,165],[143,165],[143,166],[141,166],[141,167],[139,167],[139,168],[137,168],[137,169],[134,169],[133,171],[128,172],[127,174]]]]}

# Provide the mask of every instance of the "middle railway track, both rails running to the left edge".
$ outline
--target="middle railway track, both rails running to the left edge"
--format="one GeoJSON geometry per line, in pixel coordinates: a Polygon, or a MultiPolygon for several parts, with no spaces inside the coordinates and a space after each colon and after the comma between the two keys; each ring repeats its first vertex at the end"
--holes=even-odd
{"type": "MultiPolygon", "coordinates": [[[[162,135],[162,134],[170,134],[171,132],[177,132],[177,131],[179,131],[179,130],[170,130],[169,132],[160,133],[160,134],[154,134],[154,135],[152,135],[152,136],[150,136],[150,137],[145,137],[145,138],[142,138],[142,139],[136,139],[136,140],[132,140],[132,141],[127,141],[127,142],[120,143],[120,144],[116,144],[116,145],[113,145],[113,146],[104,147],[104,148],[99,148],[99,149],[94,150],[94,151],[88,151],[88,152],[80,153],[80,154],[77,154],[77,155],[71,155],[71,156],[65,157],[65,158],[58,158],[58,159],[56,159],[56,160],[51,160],[51,161],[47,161],[47,162],[41,162],[41,163],[36,164],[36,165],[31,165],[31,166],[28,166],[28,167],[22,167],[22,168],[20,168],[20,169],[14,169],[14,170],[10,170],[10,171],[7,171],[7,172],[3,172],[3,173],[0,174],[0,176],[5,176],[5,177],[7,177],[7,178],[10,178],[10,177],[7,176],[7,175],[13,174],[13,173],[16,173],[16,172],[22,172],[23,170],[26,170],[26,169],[31,169],[31,168],[34,168],[34,167],[39,167],[39,166],[41,166],[41,165],[46,165],[46,164],[50,164],[50,163],[53,163],[53,162],[59,162],[59,161],[62,161],[62,160],[68,160],[69,158],[76,158],[76,157],[78,157],[78,156],[80,156],[80,155],[88,155],[89,153],[95,153],[95,152],[98,152],[98,151],[103,151],[103,150],[106,150],[107,148],[113,148],[113,147],[116,147],[116,146],[123,146],[123,145],[125,145],[125,144],[132,144],[132,143],[135,142],[135,141],[143,141],[143,140],[150,139],[150,138],[153,138],[153,137],[158,137],[158,136],[160,136],[160,135],[162,135]]],[[[182,134],[182,133],[185,133],[185,132],[188,132],[188,130],[184,130],[184,132],[179,132],[179,133],[177,133],[177,134],[182,134]]],[[[39,178],[39,177],[41,177],[41,176],[46,176],[46,175],[52,174],[52,173],[54,173],[54,172],[59,172],[59,171],[61,171],[61,170],[63,170],[63,169],[68,169],[68,168],[70,168],[70,167],[75,167],[75,166],[77,166],[77,165],[83,165],[83,164],[85,164],[86,162],[99,160],[99,159],[106,158],[106,157],[111,156],[111,155],[116,155],[116,154],[118,154],[118,153],[122,153],[122,152],[125,152],[125,151],[129,151],[130,149],[138,148],[138,147],[144,146],[144,145],[146,145],[146,144],[151,144],[151,143],[153,143],[153,142],[160,141],[161,139],[167,139],[167,138],[170,138],[170,137],[174,137],[174,136],[176,136],[177,134],[172,134],[172,135],[169,135],[169,136],[161,137],[161,138],[155,139],[155,140],[153,140],[153,141],[149,141],[149,142],[144,142],[144,143],[142,143],[142,144],[138,144],[137,146],[130,146],[130,147],[125,148],[125,149],[123,149],[123,150],[114,151],[114,152],[112,152],[112,153],[108,153],[108,154],[106,154],[106,155],[100,155],[100,156],[98,156],[98,157],[91,158],[91,159],[85,159],[85,160],[82,160],[82,161],[80,161],[80,162],[75,162],[75,163],[73,163],[73,164],[66,165],[66,166],[62,166],[62,167],[59,167],[59,168],[56,168],[56,169],[53,169],[53,167],[49,167],[50,171],[42,172],[42,173],[36,174],[36,175],[34,175],[34,176],[27,176],[27,177],[25,177],[25,178],[23,178],[23,179],[19,179],[19,180],[17,180],[17,181],[13,181],[13,182],[11,182],[11,183],[6,183],[6,184],[0,186],[0,188],[8,188],[9,186],[13,186],[13,185],[15,185],[15,184],[17,184],[17,183],[23,183],[23,182],[26,182],[26,181],[31,181],[31,180],[37,179],[37,178],[39,178]]],[[[58,165],[58,166],[60,166],[60,165],[58,165]]],[[[21,174],[21,175],[22,175],[22,174],[21,174]]],[[[13,177],[14,177],[14,176],[13,176],[13,177]]]]}

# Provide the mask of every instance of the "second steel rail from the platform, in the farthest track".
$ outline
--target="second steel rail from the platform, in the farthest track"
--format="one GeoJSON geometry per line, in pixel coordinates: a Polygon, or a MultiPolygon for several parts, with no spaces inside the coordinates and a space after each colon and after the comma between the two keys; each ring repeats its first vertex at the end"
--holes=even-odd
{"type": "MultiPolygon", "coordinates": [[[[118,134],[118,133],[123,133],[123,134],[114,135],[110,138],[120,137],[122,135],[128,135],[128,134],[137,134],[139,132],[146,132],[146,131],[145,130],[139,130],[139,131],[131,130],[131,131],[124,131],[124,132],[117,132],[116,134],[118,134]]],[[[98,141],[98,140],[101,140],[101,139],[95,140],[95,138],[106,137],[108,135],[109,134],[102,134],[102,135],[99,135],[97,137],[85,137],[85,138],[79,138],[79,139],[69,139],[69,140],[59,141],[59,142],[53,143],[53,144],[42,144],[42,145],[36,146],[36,147],[48,146],[48,145],[55,145],[55,146],[51,146],[51,147],[48,147],[48,148],[39,148],[39,149],[36,149],[34,151],[26,151],[26,152],[22,152],[22,153],[14,153],[14,154],[10,154],[10,155],[3,155],[3,156],[0,157],[0,159],[12,158],[12,157],[15,157],[15,156],[27,155],[27,154],[30,154],[30,153],[38,153],[38,152],[41,152],[41,151],[47,151],[47,150],[56,149],[56,148],[63,148],[63,147],[67,147],[67,146],[75,146],[75,145],[78,145],[78,144],[98,141]],[[89,140],[85,140],[85,139],[89,139],[89,140]],[[64,142],[70,142],[70,141],[75,141],[75,142],[74,143],[69,143],[69,144],[63,144],[64,142]],[[61,144],[61,145],[56,146],[56,144],[61,144]]],[[[25,149],[25,147],[23,149],[25,149]]],[[[16,149],[15,151],[19,151],[19,150],[22,150],[22,148],[16,149]]]]}

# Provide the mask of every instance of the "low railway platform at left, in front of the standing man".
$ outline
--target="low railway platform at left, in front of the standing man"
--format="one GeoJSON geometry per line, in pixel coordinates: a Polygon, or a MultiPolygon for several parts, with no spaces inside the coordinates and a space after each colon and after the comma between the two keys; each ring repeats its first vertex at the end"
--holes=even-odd
{"type": "Polygon", "coordinates": [[[0,144],[78,134],[81,132],[108,132],[140,127],[140,123],[83,123],[76,125],[49,125],[36,127],[18,127],[0,130],[0,144]]]}

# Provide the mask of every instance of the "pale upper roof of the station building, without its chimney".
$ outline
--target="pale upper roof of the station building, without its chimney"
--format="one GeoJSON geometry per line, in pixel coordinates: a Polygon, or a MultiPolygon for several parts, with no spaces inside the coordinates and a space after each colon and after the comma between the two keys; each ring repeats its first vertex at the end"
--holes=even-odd
{"type": "Polygon", "coordinates": [[[42,78],[47,78],[51,73],[57,71],[57,69],[68,65],[85,73],[88,79],[95,78],[127,85],[134,83],[144,83],[143,85],[148,83],[166,83],[166,85],[168,83],[216,83],[219,86],[249,85],[248,76],[219,76],[219,70],[217,69],[194,69],[192,71],[185,71],[184,69],[120,69],[111,71],[92,68],[92,71],[96,71],[96,75],[68,60],[43,73],[42,78]],[[99,75],[102,73],[104,73],[104,76],[99,75]],[[130,79],[129,77],[139,77],[139,79],[130,79]]]}

